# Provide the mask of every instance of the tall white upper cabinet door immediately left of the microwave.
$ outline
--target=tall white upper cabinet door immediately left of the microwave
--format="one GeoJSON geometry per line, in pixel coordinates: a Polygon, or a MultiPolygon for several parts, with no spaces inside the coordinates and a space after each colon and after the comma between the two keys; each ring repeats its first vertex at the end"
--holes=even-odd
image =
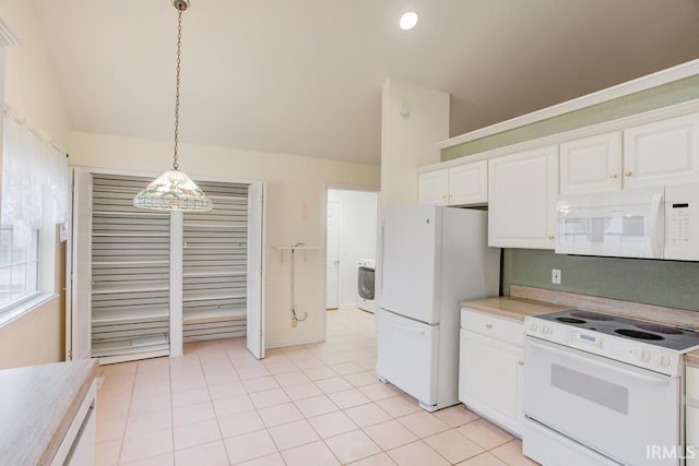
{"type": "Polygon", "coordinates": [[[488,160],[488,246],[554,249],[558,146],[488,160]]]}

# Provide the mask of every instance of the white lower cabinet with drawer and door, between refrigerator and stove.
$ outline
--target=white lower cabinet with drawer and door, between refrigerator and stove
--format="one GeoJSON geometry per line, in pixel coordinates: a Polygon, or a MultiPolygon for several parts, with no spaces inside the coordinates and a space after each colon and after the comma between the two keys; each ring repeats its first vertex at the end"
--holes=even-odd
{"type": "Polygon", "coordinates": [[[461,310],[459,401],[521,437],[524,323],[461,310]]]}

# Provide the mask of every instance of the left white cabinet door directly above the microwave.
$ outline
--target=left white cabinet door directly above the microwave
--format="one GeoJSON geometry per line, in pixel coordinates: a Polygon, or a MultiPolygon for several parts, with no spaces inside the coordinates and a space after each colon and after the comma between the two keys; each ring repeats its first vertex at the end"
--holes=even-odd
{"type": "Polygon", "coordinates": [[[560,144],[560,193],[618,191],[623,180],[621,132],[560,144]]]}

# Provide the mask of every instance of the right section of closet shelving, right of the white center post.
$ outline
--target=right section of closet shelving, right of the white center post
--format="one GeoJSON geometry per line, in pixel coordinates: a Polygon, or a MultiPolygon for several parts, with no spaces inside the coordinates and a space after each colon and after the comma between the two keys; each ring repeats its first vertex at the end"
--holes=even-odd
{"type": "Polygon", "coordinates": [[[214,202],[214,208],[186,213],[183,217],[183,340],[245,336],[248,184],[199,186],[214,202]]]}

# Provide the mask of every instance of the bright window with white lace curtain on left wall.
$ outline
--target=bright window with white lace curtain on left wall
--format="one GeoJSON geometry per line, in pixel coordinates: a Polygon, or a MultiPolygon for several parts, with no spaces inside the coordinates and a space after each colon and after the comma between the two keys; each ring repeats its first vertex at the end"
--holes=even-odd
{"type": "Polygon", "coordinates": [[[55,290],[56,225],[68,216],[66,156],[5,115],[0,206],[0,324],[55,290]]]}

